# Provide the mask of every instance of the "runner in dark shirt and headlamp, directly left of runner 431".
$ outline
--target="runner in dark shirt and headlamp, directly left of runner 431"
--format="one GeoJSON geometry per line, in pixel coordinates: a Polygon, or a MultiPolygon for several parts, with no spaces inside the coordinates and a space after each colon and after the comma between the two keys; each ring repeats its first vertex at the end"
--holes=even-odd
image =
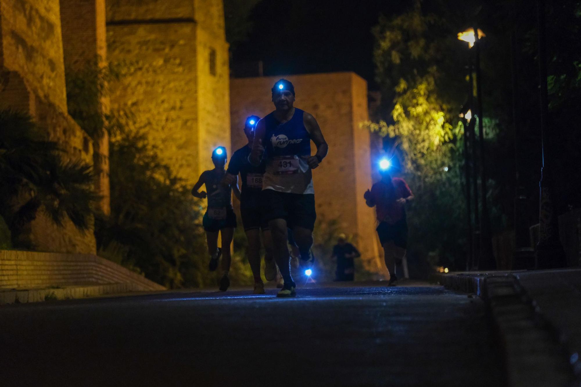
{"type": "MultiPolygon", "coordinates": [[[[236,150],[230,159],[224,182],[228,185],[236,184],[236,177],[240,174],[242,180],[242,192],[238,197],[240,200],[240,214],[242,225],[248,239],[248,263],[254,276],[254,294],[264,294],[264,283],[260,278],[260,229],[263,231],[263,244],[266,254],[264,255],[264,277],[267,281],[273,281],[277,276],[277,266],[272,257],[272,241],[268,223],[262,218],[261,191],[264,175],[264,161],[259,166],[253,166],[248,162],[252,142],[254,141],[254,129],[260,121],[260,117],[250,116],[246,119],[244,134],[248,139],[248,144],[236,150]]],[[[237,192],[236,190],[234,191],[237,192]]]]}

